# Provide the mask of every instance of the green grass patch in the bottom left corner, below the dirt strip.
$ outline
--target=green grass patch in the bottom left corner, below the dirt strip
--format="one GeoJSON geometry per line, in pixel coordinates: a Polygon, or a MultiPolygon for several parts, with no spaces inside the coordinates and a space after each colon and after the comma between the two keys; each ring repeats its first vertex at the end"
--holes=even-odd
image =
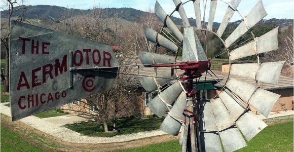
{"type": "Polygon", "coordinates": [[[30,145],[25,138],[1,125],[1,151],[43,151],[43,149],[30,145]]]}

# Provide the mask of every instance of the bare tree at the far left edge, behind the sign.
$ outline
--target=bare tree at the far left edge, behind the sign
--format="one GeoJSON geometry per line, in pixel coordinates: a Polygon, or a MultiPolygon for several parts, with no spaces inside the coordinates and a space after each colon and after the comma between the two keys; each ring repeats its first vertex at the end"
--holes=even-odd
{"type": "MultiPolygon", "coordinates": [[[[4,46],[5,49],[5,59],[6,59],[6,65],[5,65],[5,74],[4,74],[4,92],[9,92],[9,41],[10,41],[10,21],[12,18],[12,15],[14,12],[24,9],[23,6],[20,6],[22,4],[22,1],[17,0],[6,0],[5,6],[2,6],[1,9],[4,11],[7,11],[8,14],[8,21],[6,24],[1,24],[1,45],[4,46]],[[18,8],[15,8],[16,6],[20,6],[18,8]]],[[[22,17],[19,17],[18,20],[23,21],[24,19],[22,17]]]]}

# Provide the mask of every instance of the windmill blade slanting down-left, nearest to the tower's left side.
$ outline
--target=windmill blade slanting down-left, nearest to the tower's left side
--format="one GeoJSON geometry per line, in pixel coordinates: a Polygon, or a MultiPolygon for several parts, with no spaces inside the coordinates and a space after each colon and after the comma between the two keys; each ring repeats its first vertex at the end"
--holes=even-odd
{"type": "Polygon", "coordinates": [[[162,122],[160,129],[170,135],[177,136],[181,127],[181,122],[179,120],[183,120],[183,109],[187,107],[186,101],[186,93],[181,92],[179,97],[176,99],[175,103],[173,104],[169,115],[166,116],[164,121],[162,122]]]}

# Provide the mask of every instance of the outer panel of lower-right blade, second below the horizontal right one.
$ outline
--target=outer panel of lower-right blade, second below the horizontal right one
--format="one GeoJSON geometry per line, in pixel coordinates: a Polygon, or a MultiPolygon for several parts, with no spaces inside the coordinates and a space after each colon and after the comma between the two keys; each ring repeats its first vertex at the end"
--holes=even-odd
{"type": "Polygon", "coordinates": [[[256,134],[267,127],[267,124],[255,116],[252,112],[246,112],[236,122],[247,141],[251,140],[256,134]]]}

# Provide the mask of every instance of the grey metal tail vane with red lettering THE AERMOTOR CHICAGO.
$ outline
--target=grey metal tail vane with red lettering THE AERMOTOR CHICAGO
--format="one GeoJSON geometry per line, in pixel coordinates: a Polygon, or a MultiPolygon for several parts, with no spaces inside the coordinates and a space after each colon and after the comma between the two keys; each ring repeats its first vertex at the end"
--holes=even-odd
{"type": "Polygon", "coordinates": [[[12,121],[111,89],[118,60],[111,47],[11,22],[12,121]]]}

